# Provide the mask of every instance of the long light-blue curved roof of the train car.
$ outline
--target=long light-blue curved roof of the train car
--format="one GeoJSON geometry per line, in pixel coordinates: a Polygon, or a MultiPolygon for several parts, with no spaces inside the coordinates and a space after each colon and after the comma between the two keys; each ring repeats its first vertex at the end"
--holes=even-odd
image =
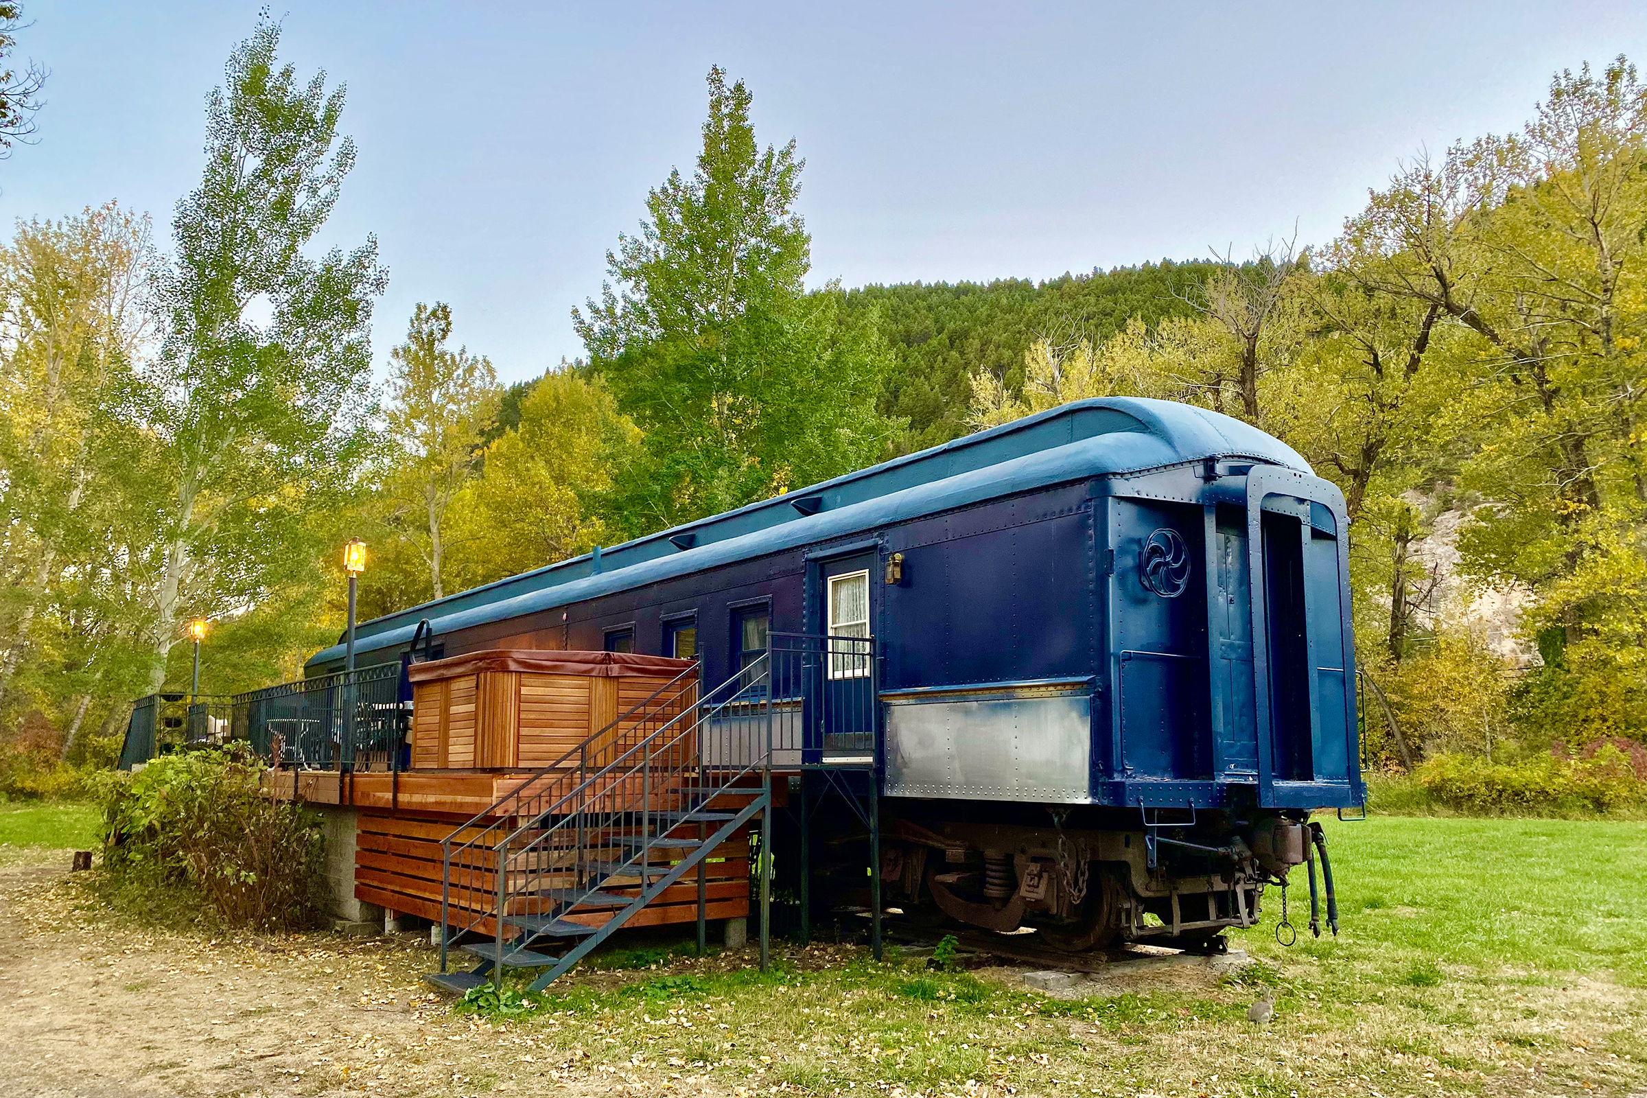
{"type": "MultiPolygon", "coordinates": [[[[402,649],[425,617],[436,635],[450,634],[993,497],[1209,458],[1250,458],[1311,471],[1286,443],[1217,412],[1140,397],[1077,400],[738,510],[385,614],[356,627],[356,652],[364,657],[402,649]]],[[[341,658],[339,642],[316,652],[306,667],[318,670],[341,658]]]]}

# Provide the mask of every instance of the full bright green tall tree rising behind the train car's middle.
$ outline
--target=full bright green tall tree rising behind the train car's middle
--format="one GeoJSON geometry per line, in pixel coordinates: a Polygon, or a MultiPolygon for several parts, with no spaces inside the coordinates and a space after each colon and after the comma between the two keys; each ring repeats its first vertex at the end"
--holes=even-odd
{"type": "Polygon", "coordinates": [[[573,309],[596,372],[646,433],[626,477],[657,527],[858,468],[896,428],[875,410],[891,364],[878,314],[804,290],[810,237],[796,145],[761,150],[749,92],[708,74],[693,174],[647,196],[639,235],[608,252],[600,303],[573,309]],[[613,286],[618,285],[618,288],[613,286]]]}

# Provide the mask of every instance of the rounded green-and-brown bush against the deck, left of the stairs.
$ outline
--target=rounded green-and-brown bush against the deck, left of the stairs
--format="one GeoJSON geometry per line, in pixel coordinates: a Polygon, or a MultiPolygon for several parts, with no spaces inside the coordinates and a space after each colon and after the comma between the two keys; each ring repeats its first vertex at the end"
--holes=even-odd
{"type": "Polygon", "coordinates": [[[231,751],[161,756],[102,784],[104,864],[115,876],[191,887],[231,927],[313,922],[320,821],[259,787],[259,764],[231,751]]]}

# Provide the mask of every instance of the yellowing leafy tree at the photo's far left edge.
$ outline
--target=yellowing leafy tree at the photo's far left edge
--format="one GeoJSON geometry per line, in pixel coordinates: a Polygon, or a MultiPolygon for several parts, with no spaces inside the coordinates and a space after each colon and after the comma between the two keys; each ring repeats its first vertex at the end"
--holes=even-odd
{"type": "MultiPolygon", "coordinates": [[[[0,710],[43,617],[58,667],[76,678],[74,668],[97,665],[92,682],[119,647],[110,616],[128,624],[94,576],[109,523],[130,517],[132,426],[119,408],[153,334],[152,263],[148,219],[114,202],[20,222],[0,247],[0,710]],[[77,622],[66,629],[71,609],[77,622]],[[77,644],[89,635],[100,644],[77,644]]],[[[77,716],[89,703],[81,691],[77,716]]]]}

